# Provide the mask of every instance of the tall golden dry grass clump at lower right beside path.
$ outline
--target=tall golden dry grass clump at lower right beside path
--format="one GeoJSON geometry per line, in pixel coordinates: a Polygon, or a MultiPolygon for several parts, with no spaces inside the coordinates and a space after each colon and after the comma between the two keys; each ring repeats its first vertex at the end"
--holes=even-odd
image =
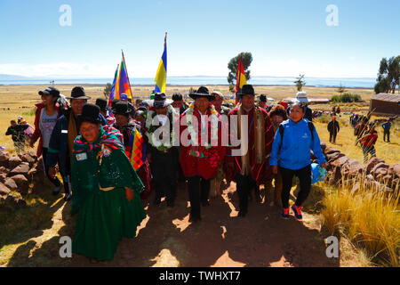
{"type": "Polygon", "coordinates": [[[339,189],[326,187],[321,218],[324,227],[355,245],[371,265],[398,266],[400,247],[400,215],[398,192],[365,187],[364,177],[359,191],[352,192],[352,183],[339,189]]]}

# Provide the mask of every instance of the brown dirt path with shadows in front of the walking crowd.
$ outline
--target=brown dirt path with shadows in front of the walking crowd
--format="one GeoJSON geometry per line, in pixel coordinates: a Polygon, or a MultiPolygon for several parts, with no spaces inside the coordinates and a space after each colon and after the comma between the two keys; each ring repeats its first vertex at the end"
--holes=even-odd
{"type": "MultiPolygon", "coordinates": [[[[236,217],[236,185],[202,208],[202,221],[188,223],[188,193],[178,191],[174,208],[144,201],[148,217],[135,239],[123,239],[114,260],[91,264],[84,256],[60,258],[60,236],[73,236],[70,203],[54,212],[52,225],[16,249],[9,266],[339,266],[325,256],[316,215],[283,220],[280,209],[255,201],[244,218],[236,217]],[[65,224],[67,225],[65,225],[65,224]],[[63,225],[64,224],[64,225],[63,225]]],[[[60,199],[57,203],[63,203],[60,199]]],[[[313,203],[313,201],[309,201],[313,203]]],[[[59,205],[60,206],[60,205],[59,205]]],[[[53,205],[57,207],[57,205],[53,205]]]]}

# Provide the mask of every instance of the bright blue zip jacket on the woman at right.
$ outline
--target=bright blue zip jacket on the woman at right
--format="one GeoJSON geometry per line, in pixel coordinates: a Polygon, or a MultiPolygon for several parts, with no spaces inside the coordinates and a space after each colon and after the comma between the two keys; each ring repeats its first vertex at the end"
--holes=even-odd
{"type": "MultiPolygon", "coordinates": [[[[294,123],[292,119],[285,120],[284,126],[284,141],[282,148],[279,151],[279,166],[299,170],[311,164],[311,150],[320,164],[326,162],[324,153],[321,150],[318,134],[314,127],[314,141],[311,137],[311,132],[308,127],[308,120],[301,119],[294,123]]],[[[272,152],[269,159],[269,165],[278,165],[278,150],[281,144],[281,134],[279,128],[276,129],[274,142],[272,142],[272,152]]]]}

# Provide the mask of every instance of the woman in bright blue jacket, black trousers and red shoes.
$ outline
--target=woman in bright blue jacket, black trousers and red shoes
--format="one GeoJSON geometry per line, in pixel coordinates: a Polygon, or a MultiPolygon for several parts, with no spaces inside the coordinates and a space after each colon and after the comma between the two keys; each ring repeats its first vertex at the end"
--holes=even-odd
{"type": "Polygon", "coordinates": [[[302,204],[308,198],[311,189],[311,150],[321,167],[326,167],[316,127],[308,119],[303,119],[305,111],[305,106],[300,102],[292,104],[290,118],[279,126],[272,142],[269,165],[272,167],[273,174],[277,174],[279,166],[279,172],[282,175],[281,199],[284,219],[289,218],[289,197],[293,175],[299,177],[300,192],[295,205],[292,206],[292,211],[298,220],[302,219],[302,204]]]}

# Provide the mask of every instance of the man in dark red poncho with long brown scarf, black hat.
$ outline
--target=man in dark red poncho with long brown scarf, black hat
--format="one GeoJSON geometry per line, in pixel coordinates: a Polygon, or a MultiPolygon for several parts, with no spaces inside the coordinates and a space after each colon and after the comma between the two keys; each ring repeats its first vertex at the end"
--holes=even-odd
{"type": "Polygon", "coordinates": [[[260,183],[263,183],[271,173],[269,155],[272,150],[274,129],[267,111],[255,106],[252,85],[243,85],[242,93],[238,96],[240,104],[228,114],[229,125],[235,125],[233,130],[229,126],[229,145],[237,144],[233,142],[236,138],[239,138],[240,145],[228,148],[224,172],[228,183],[236,181],[236,191],[239,196],[238,216],[245,216],[250,191],[258,189],[260,183]],[[236,124],[233,116],[237,116],[236,124]],[[245,118],[247,127],[244,125],[245,118]],[[242,151],[239,151],[240,148],[242,151]]]}

